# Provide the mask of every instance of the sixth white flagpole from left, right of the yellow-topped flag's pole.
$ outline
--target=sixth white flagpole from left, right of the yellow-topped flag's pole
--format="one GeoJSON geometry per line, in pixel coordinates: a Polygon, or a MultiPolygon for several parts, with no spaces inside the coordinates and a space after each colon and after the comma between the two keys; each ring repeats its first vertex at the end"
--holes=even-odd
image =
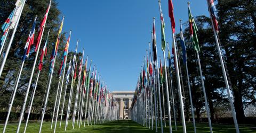
{"type": "MultiPolygon", "coordinates": [[[[69,32],[69,40],[68,40],[68,48],[69,48],[69,41],[70,41],[70,36],[71,36],[71,31],[69,32]]],[[[62,76],[62,81],[61,81],[61,86],[60,86],[60,96],[59,96],[59,102],[57,104],[57,112],[56,112],[56,118],[55,118],[55,126],[54,126],[54,133],[56,131],[56,126],[57,126],[57,121],[58,121],[58,116],[59,116],[59,108],[60,108],[60,100],[61,100],[61,93],[62,93],[62,87],[63,87],[63,81],[64,81],[64,77],[65,77],[65,70],[66,70],[66,64],[67,64],[67,58],[68,58],[68,48],[67,48],[67,55],[66,55],[66,60],[65,60],[65,63],[63,65],[63,76],[62,76]]],[[[61,77],[60,77],[61,79],[61,77]]],[[[58,92],[57,92],[58,94],[58,92]]],[[[54,116],[53,116],[54,117],[54,116]]],[[[18,133],[18,132],[17,132],[18,133]]]]}

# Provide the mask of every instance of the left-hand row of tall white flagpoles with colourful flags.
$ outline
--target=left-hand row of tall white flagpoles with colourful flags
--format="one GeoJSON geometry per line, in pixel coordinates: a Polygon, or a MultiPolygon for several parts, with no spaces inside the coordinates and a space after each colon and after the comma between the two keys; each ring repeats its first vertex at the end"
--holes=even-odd
{"type": "MultiPolygon", "coordinates": [[[[22,10],[23,10],[23,7],[25,5],[25,2],[26,2],[25,0],[18,0],[15,3],[16,7],[14,8],[14,10],[10,14],[10,16],[7,18],[4,25],[2,26],[2,30],[4,31],[4,34],[3,34],[3,37],[1,38],[1,53],[0,54],[2,54],[3,46],[5,44],[5,41],[6,41],[6,38],[8,36],[9,30],[13,29],[13,32],[12,32],[12,36],[11,36],[9,45],[7,46],[7,49],[5,51],[4,59],[3,59],[2,64],[1,64],[0,76],[2,75],[3,68],[4,68],[4,65],[5,65],[5,61],[7,59],[7,55],[9,54],[9,50],[10,50],[10,47],[11,47],[11,44],[12,44],[12,41],[13,41],[13,38],[14,38],[14,35],[15,35],[15,31],[17,30],[19,19],[20,19],[20,16],[22,14],[22,10]]],[[[50,7],[51,7],[51,1],[49,3],[49,6],[47,7],[44,18],[41,21],[41,24],[39,26],[39,31],[38,31],[35,43],[34,43],[34,36],[35,36],[35,26],[36,26],[37,16],[34,19],[33,27],[32,27],[32,29],[29,33],[29,37],[28,37],[26,45],[25,45],[25,54],[22,57],[22,63],[20,65],[19,73],[18,73],[18,76],[17,76],[16,81],[15,81],[15,87],[13,89],[12,96],[11,96],[11,99],[10,99],[9,110],[7,112],[7,117],[6,117],[6,120],[5,120],[5,125],[4,125],[3,132],[5,132],[6,127],[7,127],[9,116],[10,116],[10,113],[11,113],[11,110],[12,110],[12,104],[13,104],[14,97],[15,97],[15,94],[17,92],[17,88],[18,88],[18,85],[19,85],[20,77],[21,77],[21,74],[22,74],[23,65],[25,63],[26,58],[28,58],[28,56],[31,52],[30,49],[31,49],[32,45],[35,44],[36,45],[35,46],[35,52],[36,52],[35,60],[34,60],[33,68],[31,70],[31,75],[29,77],[29,82],[28,82],[28,87],[27,87],[27,90],[26,90],[25,100],[23,102],[23,105],[22,105],[22,108],[21,108],[21,111],[20,111],[19,123],[18,123],[18,128],[17,128],[17,132],[20,132],[21,122],[23,120],[24,113],[26,111],[26,103],[27,103],[27,100],[28,100],[28,95],[29,95],[31,83],[32,83],[33,76],[34,76],[34,73],[35,73],[35,67],[36,67],[36,64],[37,64],[39,49],[40,49],[40,46],[41,46],[41,42],[42,42],[44,29],[45,29],[47,16],[48,16],[50,7]]],[[[42,117],[41,117],[39,132],[42,132],[45,111],[46,111],[46,108],[47,108],[47,102],[49,101],[51,83],[52,83],[52,80],[54,80],[53,79],[54,78],[53,73],[54,73],[55,61],[56,61],[56,58],[57,58],[57,52],[58,52],[60,39],[61,39],[60,37],[61,37],[63,22],[64,22],[64,16],[62,17],[62,22],[60,24],[57,41],[55,42],[55,46],[53,48],[51,58],[50,58],[50,60],[51,60],[50,61],[50,73],[49,73],[49,77],[48,77],[48,80],[47,80],[45,99],[43,99],[42,117]]],[[[40,72],[41,72],[43,64],[44,64],[44,57],[46,56],[47,41],[48,41],[48,38],[49,38],[49,34],[50,34],[50,30],[48,31],[47,38],[46,38],[46,41],[45,41],[45,45],[41,50],[41,56],[40,56],[38,70],[37,70],[36,80],[35,80],[35,83],[32,85],[33,86],[33,91],[31,93],[31,97],[30,97],[30,101],[29,101],[29,105],[28,105],[28,116],[27,116],[27,119],[26,119],[26,125],[25,125],[24,132],[26,132],[26,129],[27,129],[27,126],[28,126],[28,120],[29,120],[29,116],[30,116],[30,112],[31,112],[31,107],[33,106],[33,101],[34,101],[34,97],[35,97],[37,83],[38,83],[38,80],[39,80],[39,75],[40,75],[40,72]]],[[[75,50],[75,54],[73,56],[72,63],[71,63],[72,55],[70,56],[70,61],[69,61],[69,64],[68,64],[68,69],[67,69],[67,74],[66,74],[66,82],[64,81],[65,73],[66,73],[66,64],[67,64],[67,58],[68,58],[68,49],[69,49],[70,37],[71,37],[71,30],[70,30],[70,33],[69,33],[69,37],[68,37],[65,49],[63,51],[63,55],[61,57],[62,62],[61,62],[61,66],[60,66],[60,69],[59,69],[59,72],[58,72],[58,75],[59,75],[58,76],[58,81],[59,81],[59,83],[58,83],[57,92],[56,92],[56,95],[55,95],[54,110],[53,110],[52,122],[51,122],[51,129],[52,129],[53,121],[54,121],[54,118],[55,118],[55,124],[54,124],[53,132],[55,132],[57,130],[59,110],[60,110],[60,106],[61,106],[62,88],[63,88],[63,84],[65,83],[65,92],[64,92],[63,99],[62,99],[61,118],[60,118],[60,127],[59,127],[59,128],[61,128],[62,116],[63,116],[63,113],[65,113],[64,108],[65,108],[65,100],[66,100],[66,94],[67,94],[67,89],[68,89],[67,87],[68,87],[68,84],[69,84],[70,73],[72,75],[71,76],[72,81],[71,81],[71,87],[70,87],[70,93],[69,93],[68,108],[67,108],[67,112],[66,112],[65,131],[68,127],[68,121],[69,121],[71,108],[73,108],[73,116],[72,116],[73,129],[75,127],[75,121],[76,120],[77,120],[77,125],[78,125],[78,121],[79,121],[79,128],[80,128],[83,121],[84,121],[84,127],[85,127],[86,122],[89,126],[89,124],[92,125],[93,122],[94,122],[94,125],[95,125],[95,123],[99,124],[99,123],[102,123],[102,122],[105,122],[105,121],[117,120],[119,118],[118,117],[119,105],[116,102],[116,100],[113,99],[113,96],[109,92],[106,83],[102,81],[101,77],[99,76],[99,73],[97,74],[97,69],[95,68],[95,65],[93,66],[92,74],[91,74],[91,77],[90,77],[92,61],[90,62],[89,70],[87,70],[88,56],[86,57],[85,65],[83,65],[84,50],[83,50],[82,59],[79,62],[78,80],[76,82],[76,69],[77,69],[76,67],[77,67],[77,64],[78,64],[78,60],[76,59],[76,55],[77,55],[78,41],[77,41],[76,50],[75,50]],[[82,69],[84,69],[84,73],[82,73],[82,69]],[[83,78],[82,78],[82,75],[83,75],[83,78]],[[97,76],[98,76],[98,79],[97,79],[97,76]],[[76,88],[74,88],[75,84],[76,84],[76,88]],[[90,89],[90,91],[89,91],[89,89],[90,89]],[[74,94],[76,96],[75,96],[75,102],[74,102],[74,105],[73,105],[72,100],[73,100],[73,91],[74,90],[76,90],[76,93],[74,94]],[[88,101],[89,101],[89,104],[88,104],[88,101]]]]}

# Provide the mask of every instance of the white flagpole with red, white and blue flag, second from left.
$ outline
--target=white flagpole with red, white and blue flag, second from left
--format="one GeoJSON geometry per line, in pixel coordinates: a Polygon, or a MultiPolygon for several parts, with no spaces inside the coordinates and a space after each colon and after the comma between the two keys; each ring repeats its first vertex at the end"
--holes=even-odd
{"type": "MultiPolygon", "coordinates": [[[[37,16],[35,17],[35,21],[37,19],[37,16]]],[[[16,25],[15,25],[16,26],[16,25]]],[[[35,30],[35,29],[34,29],[35,30]]],[[[30,34],[31,34],[31,31],[30,31],[30,34]]],[[[29,34],[29,36],[30,36],[29,34]]],[[[30,40],[28,42],[26,42],[26,45],[28,45],[30,43],[30,40]]],[[[26,48],[27,46],[25,46],[26,48]]],[[[26,51],[25,51],[26,52],[26,51]]],[[[26,53],[25,53],[26,54],[26,53]]],[[[9,104],[9,109],[8,109],[8,113],[7,113],[7,117],[6,117],[6,120],[5,120],[5,124],[4,124],[4,129],[3,129],[3,132],[5,132],[5,129],[6,129],[6,126],[7,126],[7,123],[8,123],[8,120],[9,120],[9,117],[10,117],[10,113],[12,111],[12,104],[13,104],[13,101],[14,101],[14,97],[16,95],[16,92],[17,92],[17,89],[18,89],[18,85],[19,85],[19,82],[20,82],[20,76],[21,76],[21,73],[22,73],[22,69],[23,69],[23,65],[25,63],[25,60],[26,60],[26,57],[22,57],[22,63],[21,63],[21,66],[20,66],[20,69],[19,69],[19,74],[18,74],[18,78],[16,79],[15,81],[15,85],[14,85],[14,90],[13,90],[13,93],[12,93],[12,96],[11,96],[11,103],[9,104]],[[23,59],[25,58],[25,59],[23,59]]]]}

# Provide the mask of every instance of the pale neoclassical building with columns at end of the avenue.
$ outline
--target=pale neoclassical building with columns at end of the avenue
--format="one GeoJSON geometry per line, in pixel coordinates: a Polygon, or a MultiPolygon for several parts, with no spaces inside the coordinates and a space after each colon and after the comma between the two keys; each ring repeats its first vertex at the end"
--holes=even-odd
{"type": "Polygon", "coordinates": [[[131,119],[130,111],[132,100],[134,96],[134,91],[113,91],[113,98],[119,103],[120,107],[120,119],[131,119]]]}

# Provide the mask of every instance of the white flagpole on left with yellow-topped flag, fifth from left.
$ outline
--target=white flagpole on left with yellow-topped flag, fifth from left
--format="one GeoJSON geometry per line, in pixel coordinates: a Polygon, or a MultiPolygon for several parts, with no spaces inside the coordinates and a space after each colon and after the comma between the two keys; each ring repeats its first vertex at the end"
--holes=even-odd
{"type": "MultiPolygon", "coordinates": [[[[62,17],[62,23],[63,23],[63,21],[64,21],[64,16],[62,17]]],[[[55,65],[56,57],[57,57],[57,55],[55,55],[54,59],[53,59],[50,80],[49,80],[49,84],[47,86],[47,93],[46,93],[46,97],[45,97],[44,107],[42,109],[42,118],[41,118],[41,124],[40,124],[40,128],[39,128],[39,133],[41,133],[41,131],[42,131],[42,126],[43,126],[43,122],[44,122],[44,114],[45,114],[46,105],[47,105],[48,97],[49,97],[49,93],[50,93],[50,87],[51,87],[52,75],[53,75],[53,72],[54,72],[54,65],[55,65]]],[[[58,92],[57,92],[57,94],[58,94],[58,92]]]]}

